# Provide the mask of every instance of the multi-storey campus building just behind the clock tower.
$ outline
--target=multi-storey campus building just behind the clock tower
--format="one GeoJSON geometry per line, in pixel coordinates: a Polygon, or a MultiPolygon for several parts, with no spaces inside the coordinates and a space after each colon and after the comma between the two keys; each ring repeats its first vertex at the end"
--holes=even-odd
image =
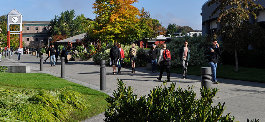
{"type": "Polygon", "coordinates": [[[29,47],[30,45],[40,45],[40,41],[42,43],[48,43],[48,27],[50,21],[22,21],[24,24],[23,27],[23,42],[26,44],[25,47],[29,47]]]}

